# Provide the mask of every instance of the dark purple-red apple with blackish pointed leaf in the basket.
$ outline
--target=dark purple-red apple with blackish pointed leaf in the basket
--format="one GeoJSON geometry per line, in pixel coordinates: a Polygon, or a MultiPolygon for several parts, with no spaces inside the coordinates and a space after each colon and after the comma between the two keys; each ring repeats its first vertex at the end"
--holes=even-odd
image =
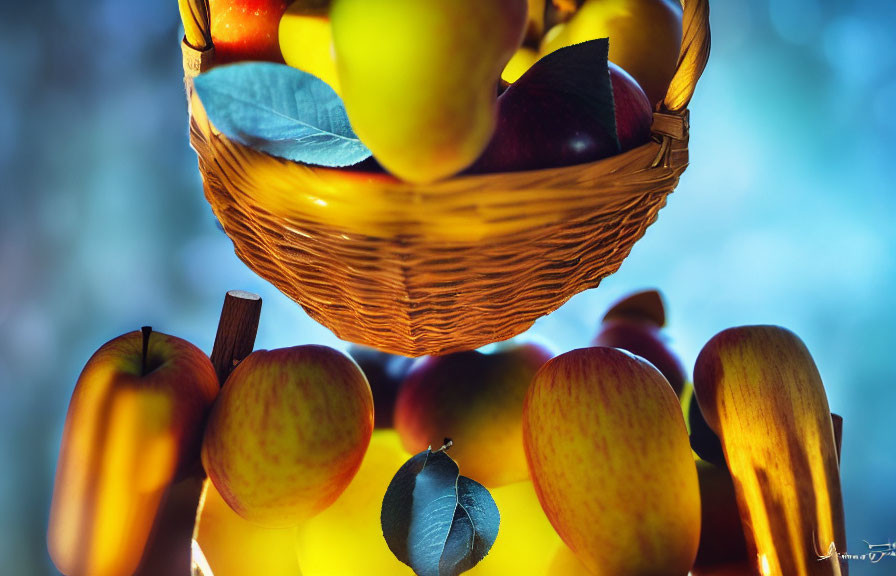
{"type": "Polygon", "coordinates": [[[606,42],[576,44],[543,57],[501,94],[495,133],[469,172],[592,162],[646,143],[652,122],[638,83],[607,63],[606,42]]]}

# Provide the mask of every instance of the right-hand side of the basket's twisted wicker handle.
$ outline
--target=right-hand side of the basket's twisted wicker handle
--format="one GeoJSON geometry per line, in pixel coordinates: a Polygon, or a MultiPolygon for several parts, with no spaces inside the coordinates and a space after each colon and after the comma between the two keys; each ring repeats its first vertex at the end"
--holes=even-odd
{"type": "Polygon", "coordinates": [[[681,4],[684,15],[678,68],[663,100],[663,108],[674,113],[688,107],[697,80],[706,68],[710,46],[709,0],[681,0],[681,4]]]}

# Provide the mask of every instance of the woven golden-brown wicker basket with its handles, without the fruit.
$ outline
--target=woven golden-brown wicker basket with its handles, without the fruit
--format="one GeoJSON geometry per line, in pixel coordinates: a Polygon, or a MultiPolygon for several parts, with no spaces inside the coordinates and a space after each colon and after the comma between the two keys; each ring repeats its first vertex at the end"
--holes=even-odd
{"type": "Polygon", "coordinates": [[[207,9],[184,2],[190,141],[206,198],[240,259],[344,340],[419,356],[520,334],[615,272],[687,167],[707,0],[683,2],[678,71],[650,143],[590,164],[428,185],[225,138],[192,92],[191,78],[214,65],[207,9]]]}

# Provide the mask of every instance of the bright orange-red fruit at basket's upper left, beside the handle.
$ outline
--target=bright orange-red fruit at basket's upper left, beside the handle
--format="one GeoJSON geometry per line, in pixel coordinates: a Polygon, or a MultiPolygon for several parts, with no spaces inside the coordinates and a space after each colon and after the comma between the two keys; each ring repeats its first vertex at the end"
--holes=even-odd
{"type": "Polygon", "coordinates": [[[283,62],[279,27],[287,4],[285,0],[209,0],[215,60],[283,62]]]}

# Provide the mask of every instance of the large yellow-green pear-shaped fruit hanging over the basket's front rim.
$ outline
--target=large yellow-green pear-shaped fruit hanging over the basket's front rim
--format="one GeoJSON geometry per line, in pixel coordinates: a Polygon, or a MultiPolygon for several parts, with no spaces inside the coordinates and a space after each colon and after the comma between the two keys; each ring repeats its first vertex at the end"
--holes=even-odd
{"type": "Polygon", "coordinates": [[[522,41],[526,0],[335,0],[339,84],[352,127],[411,182],[472,164],[495,127],[495,89],[522,41]]]}

